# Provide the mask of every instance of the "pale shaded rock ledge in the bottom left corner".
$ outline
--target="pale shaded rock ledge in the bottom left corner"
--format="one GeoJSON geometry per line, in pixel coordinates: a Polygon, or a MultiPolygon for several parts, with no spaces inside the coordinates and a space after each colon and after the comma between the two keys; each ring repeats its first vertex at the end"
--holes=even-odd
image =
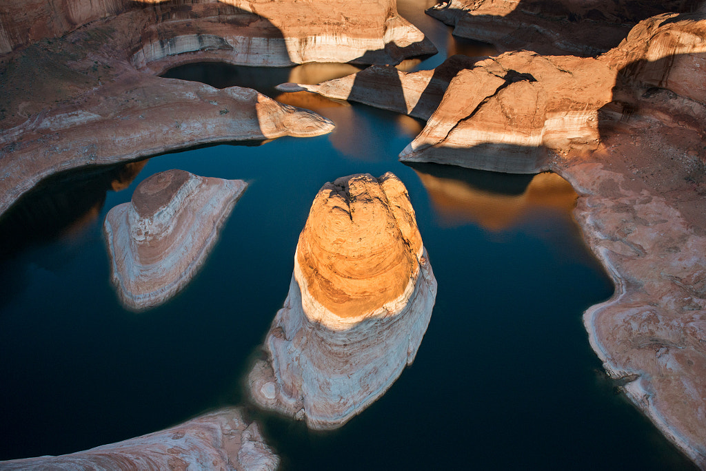
{"type": "Polygon", "coordinates": [[[175,427],[59,456],[1,461],[3,470],[274,470],[280,458],[239,408],[210,412],[175,427]]]}

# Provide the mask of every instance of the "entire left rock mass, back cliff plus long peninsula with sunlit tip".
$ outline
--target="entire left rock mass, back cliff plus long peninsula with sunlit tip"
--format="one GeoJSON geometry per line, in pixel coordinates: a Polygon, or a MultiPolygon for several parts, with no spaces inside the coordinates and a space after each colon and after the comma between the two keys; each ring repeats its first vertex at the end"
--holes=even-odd
{"type": "Polygon", "coordinates": [[[59,171],[333,123],[174,66],[397,63],[436,49],[394,0],[6,1],[0,6],[0,214],[59,171]]]}

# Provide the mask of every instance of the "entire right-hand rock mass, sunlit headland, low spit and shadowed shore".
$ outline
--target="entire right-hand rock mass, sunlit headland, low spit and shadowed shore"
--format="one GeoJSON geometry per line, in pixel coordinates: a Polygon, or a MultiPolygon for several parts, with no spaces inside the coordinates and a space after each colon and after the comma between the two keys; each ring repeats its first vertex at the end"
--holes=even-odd
{"type": "MultiPolygon", "coordinates": [[[[642,20],[597,58],[477,60],[450,79],[400,160],[549,170],[573,185],[575,218],[616,286],[585,312],[590,343],[633,403],[706,469],[705,18],[642,20]]],[[[372,90],[396,87],[395,111],[412,114],[443,85],[425,98],[433,73],[357,75],[366,79],[312,90],[395,109],[372,90]]]]}

